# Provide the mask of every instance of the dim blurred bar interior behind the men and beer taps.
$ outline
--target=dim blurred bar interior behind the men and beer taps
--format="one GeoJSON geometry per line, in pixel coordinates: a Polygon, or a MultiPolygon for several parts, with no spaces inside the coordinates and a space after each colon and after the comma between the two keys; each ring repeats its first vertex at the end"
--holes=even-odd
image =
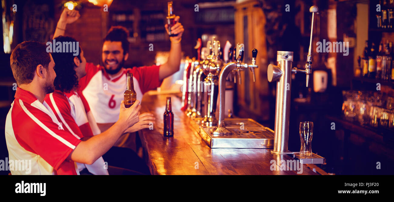
{"type": "MultiPolygon", "coordinates": [[[[80,41],[88,62],[101,63],[102,39],[111,26],[117,25],[130,32],[130,56],[125,67],[162,64],[168,55],[170,41],[164,29],[166,0],[0,1],[2,132],[16,88],[9,65],[10,54],[23,41],[51,41],[65,6],[80,11],[80,19],[67,25],[65,35],[80,41]],[[108,12],[103,10],[104,4],[108,5],[108,12]],[[149,50],[150,44],[154,45],[153,51],[149,50]]],[[[312,20],[309,8],[318,6],[319,15],[314,18],[313,70],[309,87],[305,87],[305,74],[292,75],[288,150],[300,148],[299,122],[313,121],[313,152],[326,159],[325,164],[319,165],[325,172],[392,174],[394,63],[389,59],[393,57],[394,41],[392,0],[173,2],[175,14],[180,16],[185,28],[182,37],[184,57],[197,57],[194,46],[198,38],[201,38],[203,47],[212,37],[216,37],[222,46],[226,41],[233,46],[243,43],[245,63],[251,63],[251,50],[258,49],[256,82],[253,82],[251,71],[241,71],[242,83],[229,87],[233,90],[233,100],[229,102],[233,103],[234,116],[256,120],[272,129],[276,82],[268,82],[267,67],[270,63],[277,63],[277,51],[294,52],[294,67],[305,67],[312,20]],[[377,4],[380,11],[376,10],[377,4]],[[319,42],[322,49],[318,49],[319,42]],[[338,42],[348,43],[348,48],[338,52],[327,49],[327,44],[338,42]],[[385,60],[386,65],[379,66],[379,60],[385,60]],[[376,169],[376,159],[379,159],[381,169],[376,169]]],[[[180,89],[184,61],[182,59],[180,71],[167,78],[160,91],[180,89]]],[[[2,136],[0,159],[6,157],[7,147],[2,136]]]]}

